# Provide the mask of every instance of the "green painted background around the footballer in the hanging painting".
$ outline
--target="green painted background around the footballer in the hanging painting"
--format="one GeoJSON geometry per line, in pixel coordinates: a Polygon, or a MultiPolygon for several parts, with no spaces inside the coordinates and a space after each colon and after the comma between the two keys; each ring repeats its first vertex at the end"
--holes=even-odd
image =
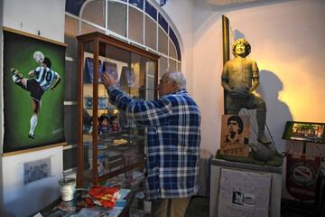
{"type": "Polygon", "coordinates": [[[64,56],[64,46],[4,31],[4,153],[64,141],[64,56]],[[32,79],[27,73],[38,66],[32,59],[36,51],[51,59],[51,70],[58,72],[61,80],[54,91],[49,89],[42,95],[36,139],[31,139],[28,137],[33,114],[30,92],[14,84],[10,69],[15,68],[24,78],[32,79]]]}

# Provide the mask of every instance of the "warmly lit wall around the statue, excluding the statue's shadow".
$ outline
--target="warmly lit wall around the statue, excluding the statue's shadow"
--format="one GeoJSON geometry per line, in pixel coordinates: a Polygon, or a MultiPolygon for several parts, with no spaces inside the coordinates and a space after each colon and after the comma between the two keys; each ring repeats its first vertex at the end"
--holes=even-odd
{"type": "MultiPolygon", "coordinates": [[[[164,6],[169,9],[168,14],[174,13],[169,15],[182,37],[183,33],[190,35],[181,23],[189,16],[187,7],[183,7],[187,2],[173,0],[164,6]]],[[[183,56],[192,53],[193,58],[191,62],[183,60],[183,69],[187,72],[193,68],[188,79],[202,112],[201,147],[212,153],[219,148],[223,114],[221,14],[229,19],[231,42],[242,36],[251,43],[250,58],[260,69],[258,92],[266,101],[267,125],[277,148],[280,151],[287,148],[282,139],[287,120],[325,122],[325,1],[260,1],[235,7],[194,1],[189,13],[192,13],[193,39],[185,47],[192,47],[183,56]]],[[[301,152],[301,147],[300,144],[295,150],[301,152]]],[[[325,154],[324,147],[320,147],[325,154]]]]}

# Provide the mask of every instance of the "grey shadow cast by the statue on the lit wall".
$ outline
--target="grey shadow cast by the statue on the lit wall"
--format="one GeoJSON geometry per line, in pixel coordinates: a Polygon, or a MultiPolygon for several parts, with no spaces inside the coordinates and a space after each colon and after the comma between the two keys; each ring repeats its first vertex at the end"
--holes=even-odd
{"type": "MultiPolygon", "coordinates": [[[[258,64],[258,63],[257,63],[258,64]]],[[[272,71],[260,71],[260,85],[257,92],[265,99],[267,108],[266,123],[270,128],[279,152],[286,151],[286,143],[282,139],[285,123],[292,120],[289,107],[279,99],[283,90],[283,82],[272,71]]]]}

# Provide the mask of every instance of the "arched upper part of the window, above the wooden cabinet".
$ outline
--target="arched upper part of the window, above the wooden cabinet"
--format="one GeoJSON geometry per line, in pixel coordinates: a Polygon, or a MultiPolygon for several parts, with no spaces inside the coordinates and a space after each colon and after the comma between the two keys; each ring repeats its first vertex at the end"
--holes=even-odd
{"type": "MultiPolygon", "coordinates": [[[[98,31],[161,55],[159,76],[181,71],[177,30],[154,0],[67,0],[66,42],[77,46],[76,35],[98,31]]],[[[76,48],[69,48],[74,57],[76,48]]]]}

